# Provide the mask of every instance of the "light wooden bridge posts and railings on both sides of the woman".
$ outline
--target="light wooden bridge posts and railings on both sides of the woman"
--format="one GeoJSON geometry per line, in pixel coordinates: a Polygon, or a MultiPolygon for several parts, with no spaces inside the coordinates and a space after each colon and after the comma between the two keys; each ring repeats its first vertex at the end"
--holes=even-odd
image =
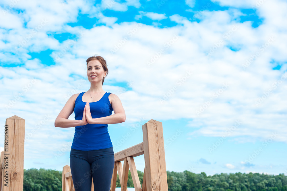
{"type": "MultiPolygon", "coordinates": [[[[115,191],[117,174],[121,191],[127,190],[129,169],[135,191],[167,191],[166,164],[162,123],[151,119],[142,126],[143,140],[137,145],[115,153],[115,165],[110,191],[115,191]],[[144,155],[144,178],[141,183],[135,167],[134,157],[144,155]],[[123,166],[121,161],[123,161],[123,166]]],[[[6,119],[4,151],[0,160],[1,191],[22,191],[24,178],[25,120],[14,115],[6,119]]],[[[62,191],[74,191],[71,169],[63,167],[62,191]]],[[[92,190],[94,186],[92,182],[92,190]]]]}

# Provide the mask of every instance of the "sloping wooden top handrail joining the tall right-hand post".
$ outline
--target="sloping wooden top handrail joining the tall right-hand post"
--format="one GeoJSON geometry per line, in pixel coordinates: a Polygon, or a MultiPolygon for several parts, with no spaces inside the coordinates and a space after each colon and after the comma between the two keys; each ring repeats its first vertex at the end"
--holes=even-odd
{"type": "Polygon", "coordinates": [[[139,144],[126,148],[123,151],[119,151],[115,153],[114,154],[115,162],[123,161],[126,157],[137,157],[143,154],[144,154],[144,143],[141,142],[139,144]]]}

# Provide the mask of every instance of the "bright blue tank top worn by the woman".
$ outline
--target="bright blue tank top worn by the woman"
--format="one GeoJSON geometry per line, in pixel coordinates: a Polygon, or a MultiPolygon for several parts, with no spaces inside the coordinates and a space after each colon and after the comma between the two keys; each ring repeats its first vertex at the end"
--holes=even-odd
{"type": "MultiPolygon", "coordinates": [[[[80,93],[75,100],[74,112],[76,120],[83,119],[84,107],[86,105],[86,102],[82,101],[84,93],[80,93]]],[[[109,95],[110,93],[106,92],[99,101],[90,102],[92,118],[106,117],[112,114],[113,108],[108,99],[109,95]]],[[[75,127],[75,135],[71,148],[80,151],[92,151],[112,146],[107,124],[86,124],[75,127]]]]}

